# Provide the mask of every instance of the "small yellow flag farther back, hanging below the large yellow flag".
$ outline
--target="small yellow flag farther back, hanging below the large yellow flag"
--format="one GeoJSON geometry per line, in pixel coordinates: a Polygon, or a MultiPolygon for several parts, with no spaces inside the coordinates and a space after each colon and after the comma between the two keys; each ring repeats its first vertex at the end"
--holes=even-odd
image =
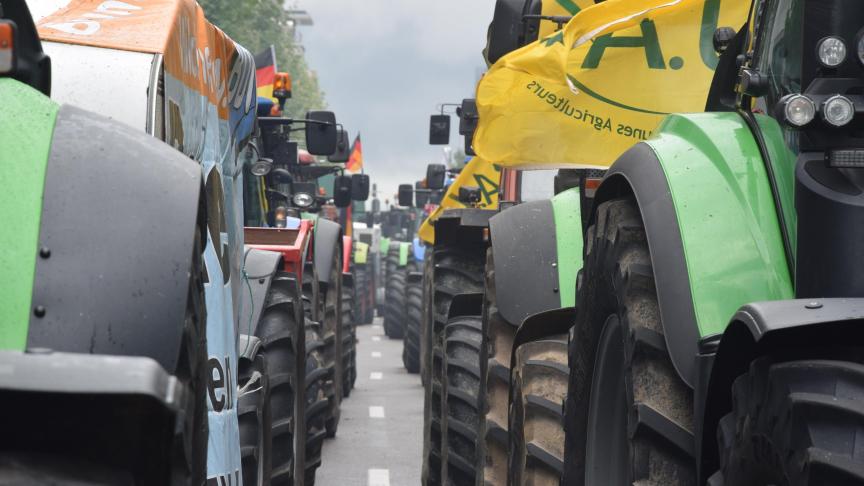
{"type": "Polygon", "coordinates": [[[478,208],[495,209],[498,207],[498,185],[501,181],[501,168],[480,157],[474,157],[459,173],[453,184],[447,189],[438,206],[432,214],[423,221],[417,236],[426,243],[435,243],[435,220],[446,209],[464,208],[459,202],[459,188],[476,186],[480,188],[480,203],[478,208]]]}

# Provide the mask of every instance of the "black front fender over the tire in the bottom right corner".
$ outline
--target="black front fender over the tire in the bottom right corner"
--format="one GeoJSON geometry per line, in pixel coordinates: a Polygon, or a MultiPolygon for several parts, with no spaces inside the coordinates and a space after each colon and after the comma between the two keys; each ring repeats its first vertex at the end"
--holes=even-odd
{"type": "Polygon", "coordinates": [[[754,359],[780,352],[793,359],[843,359],[838,348],[864,338],[864,299],[750,303],[738,310],[726,332],[717,338],[703,343],[702,383],[696,397],[703,479],[717,467],[711,463],[718,457],[715,431],[732,409],[730,391],[735,379],[754,359]],[[700,410],[704,412],[699,414],[700,410]]]}

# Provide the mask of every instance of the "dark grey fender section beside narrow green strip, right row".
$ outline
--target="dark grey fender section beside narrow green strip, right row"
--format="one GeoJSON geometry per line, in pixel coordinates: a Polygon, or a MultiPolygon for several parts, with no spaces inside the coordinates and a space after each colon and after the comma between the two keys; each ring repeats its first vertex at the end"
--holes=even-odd
{"type": "Polygon", "coordinates": [[[489,220],[498,311],[518,326],[526,317],[561,307],[555,215],[549,200],[502,211],[489,220]]]}

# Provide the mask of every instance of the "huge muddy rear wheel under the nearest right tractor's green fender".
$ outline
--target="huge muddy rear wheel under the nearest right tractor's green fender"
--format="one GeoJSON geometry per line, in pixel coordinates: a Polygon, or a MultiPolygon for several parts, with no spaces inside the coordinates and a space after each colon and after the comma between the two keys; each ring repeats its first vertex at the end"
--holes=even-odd
{"type": "Polygon", "coordinates": [[[666,350],[651,255],[631,198],[598,206],[569,345],[563,484],[694,485],[693,396],[666,350]]]}

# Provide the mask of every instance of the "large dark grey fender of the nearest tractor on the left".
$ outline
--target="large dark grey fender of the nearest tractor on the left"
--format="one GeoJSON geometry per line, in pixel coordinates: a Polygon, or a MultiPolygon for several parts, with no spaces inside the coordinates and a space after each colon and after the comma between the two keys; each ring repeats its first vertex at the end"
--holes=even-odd
{"type": "Polygon", "coordinates": [[[144,132],[60,108],[49,152],[27,348],[145,356],[174,373],[201,167],[144,132]]]}

